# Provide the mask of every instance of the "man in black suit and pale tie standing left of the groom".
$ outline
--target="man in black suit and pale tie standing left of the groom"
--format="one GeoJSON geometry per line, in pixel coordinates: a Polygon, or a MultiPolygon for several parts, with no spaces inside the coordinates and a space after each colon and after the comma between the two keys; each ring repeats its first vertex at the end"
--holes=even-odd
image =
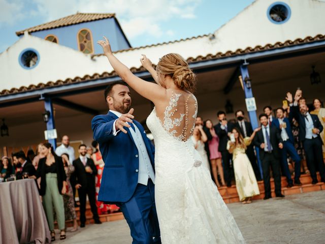
{"type": "Polygon", "coordinates": [[[79,193],[80,202],[80,227],[85,227],[86,222],[86,195],[92,212],[95,224],[102,224],[99,219],[98,211],[96,207],[96,196],[95,196],[95,175],[97,169],[92,161],[86,157],[87,146],[85,144],[79,145],[79,158],[73,161],[75,166],[75,172],[72,177],[76,182],[76,189],[79,193]]]}

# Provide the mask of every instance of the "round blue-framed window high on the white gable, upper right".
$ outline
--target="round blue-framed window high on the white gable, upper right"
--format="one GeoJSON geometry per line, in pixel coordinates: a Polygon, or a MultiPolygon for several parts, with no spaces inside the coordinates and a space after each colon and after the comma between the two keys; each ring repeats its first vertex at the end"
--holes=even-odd
{"type": "Polygon", "coordinates": [[[287,4],[277,2],[269,7],[267,15],[271,22],[275,24],[283,24],[289,20],[291,10],[287,4]]]}

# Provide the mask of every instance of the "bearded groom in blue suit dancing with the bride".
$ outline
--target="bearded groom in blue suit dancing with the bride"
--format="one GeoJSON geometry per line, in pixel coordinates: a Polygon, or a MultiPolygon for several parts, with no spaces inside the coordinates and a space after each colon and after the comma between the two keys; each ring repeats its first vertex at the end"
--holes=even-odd
{"type": "Polygon", "coordinates": [[[110,110],[91,121],[105,162],[98,200],[120,207],[133,244],[161,243],[154,200],[154,147],[141,124],[133,120],[127,84],[110,83],[104,95],[110,110]]]}

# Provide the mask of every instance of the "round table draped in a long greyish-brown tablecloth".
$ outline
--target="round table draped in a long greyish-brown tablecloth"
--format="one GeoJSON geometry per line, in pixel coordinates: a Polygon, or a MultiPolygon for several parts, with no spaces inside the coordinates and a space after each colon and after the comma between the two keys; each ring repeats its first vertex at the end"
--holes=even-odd
{"type": "Polygon", "coordinates": [[[51,234],[34,179],[0,183],[0,243],[50,243],[51,234]]]}

